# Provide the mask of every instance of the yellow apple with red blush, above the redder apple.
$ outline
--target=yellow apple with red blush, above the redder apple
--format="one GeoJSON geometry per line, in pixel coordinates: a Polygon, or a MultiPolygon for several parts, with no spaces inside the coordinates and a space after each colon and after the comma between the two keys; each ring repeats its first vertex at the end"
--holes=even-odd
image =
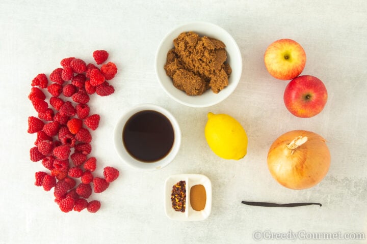
{"type": "Polygon", "coordinates": [[[268,46],[264,62],[273,77],[291,80],[302,73],[306,65],[306,53],[298,42],[280,39],[268,46]]]}

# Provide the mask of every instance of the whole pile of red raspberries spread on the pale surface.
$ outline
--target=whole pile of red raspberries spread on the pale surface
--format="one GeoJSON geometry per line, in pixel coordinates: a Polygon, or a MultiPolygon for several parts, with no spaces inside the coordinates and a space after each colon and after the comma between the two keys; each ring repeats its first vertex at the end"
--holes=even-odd
{"type": "Polygon", "coordinates": [[[31,100],[38,116],[28,117],[28,133],[37,134],[30,149],[33,162],[41,161],[46,171],[35,173],[35,185],[45,191],[54,190],[55,202],[63,212],[96,212],[98,200],[88,201],[92,192],[101,193],[119,176],[113,167],[103,169],[103,177],[93,173],[97,160],[91,157],[92,135],[100,116],[91,114],[90,96],[109,96],[115,92],[110,85],[116,73],[114,63],[104,64],[109,53],[93,52],[94,64],[67,57],[61,67],[50,73],[38,74],[32,80],[31,100]],[[47,95],[47,96],[46,96],[47,95]]]}

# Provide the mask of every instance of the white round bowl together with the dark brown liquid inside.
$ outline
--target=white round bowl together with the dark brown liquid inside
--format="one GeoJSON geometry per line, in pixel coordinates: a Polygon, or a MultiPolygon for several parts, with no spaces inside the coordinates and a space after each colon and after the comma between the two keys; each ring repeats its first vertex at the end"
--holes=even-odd
{"type": "Polygon", "coordinates": [[[118,155],[141,170],[167,166],[178,153],[181,131],[175,117],[154,104],[140,104],[126,111],[114,131],[118,155]]]}

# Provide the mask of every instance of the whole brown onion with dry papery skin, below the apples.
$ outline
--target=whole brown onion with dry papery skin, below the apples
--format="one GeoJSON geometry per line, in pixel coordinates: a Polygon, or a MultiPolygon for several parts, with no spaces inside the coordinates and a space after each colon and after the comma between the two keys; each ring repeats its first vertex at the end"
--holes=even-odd
{"type": "Polygon", "coordinates": [[[290,131],[278,137],[268,153],[272,176],[286,188],[306,189],[327,174],[330,151],[325,139],[310,131],[290,131]]]}

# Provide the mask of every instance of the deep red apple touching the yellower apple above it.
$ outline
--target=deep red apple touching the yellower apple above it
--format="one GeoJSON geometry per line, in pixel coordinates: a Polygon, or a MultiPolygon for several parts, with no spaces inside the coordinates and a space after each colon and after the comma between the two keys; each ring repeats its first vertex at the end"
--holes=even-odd
{"type": "Polygon", "coordinates": [[[285,87],[285,107],[295,116],[309,118],[320,113],[327,101],[324,83],[311,75],[301,75],[285,87]]]}

